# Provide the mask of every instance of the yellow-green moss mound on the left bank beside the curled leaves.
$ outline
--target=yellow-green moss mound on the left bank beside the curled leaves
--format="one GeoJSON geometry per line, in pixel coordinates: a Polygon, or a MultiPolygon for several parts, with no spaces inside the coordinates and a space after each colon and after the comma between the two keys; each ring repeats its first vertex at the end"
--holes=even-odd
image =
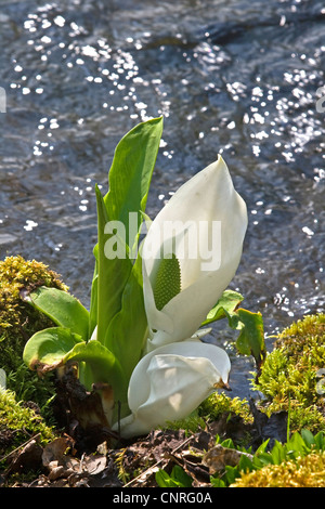
{"type": "Polygon", "coordinates": [[[43,263],[8,257],[0,261],[0,367],[6,374],[6,388],[20,400],[46,405],[51,393],[51,377],[41,383],[23,363],[26,341],[38,330],[53,326],[44,314],[21,297],[22,290],[48,286],[67,290],[55,272],[43,263]]]}

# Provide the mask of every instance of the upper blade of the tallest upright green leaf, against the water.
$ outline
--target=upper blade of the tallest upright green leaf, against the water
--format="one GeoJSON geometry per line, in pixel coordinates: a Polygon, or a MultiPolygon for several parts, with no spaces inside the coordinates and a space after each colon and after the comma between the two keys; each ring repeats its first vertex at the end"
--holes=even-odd
{"type": "Polygon", "coordinates": [[[118,143],[108,173],[109,190],[104,203],[110,221],[126,226],[126,243],[132,248],[145,211],[150,184],[162,134],[162,117],[141,122],[118,143]],[[138,214],[138,226],[129,235],[130,212],[138,214]]]}

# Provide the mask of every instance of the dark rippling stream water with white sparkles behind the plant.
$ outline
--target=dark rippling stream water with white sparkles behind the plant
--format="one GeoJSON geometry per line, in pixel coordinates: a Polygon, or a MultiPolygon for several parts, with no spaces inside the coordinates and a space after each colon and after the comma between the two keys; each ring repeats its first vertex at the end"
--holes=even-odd
{"type": "Polygon", "coordinates": [[[232,287],[268,337],[324,309],[323,1],[0,0],[0,43],[1,259],[48,263],[88,305],[94,183],[162,114],[150,216],[221,153],[249,210],[232,287]]]}

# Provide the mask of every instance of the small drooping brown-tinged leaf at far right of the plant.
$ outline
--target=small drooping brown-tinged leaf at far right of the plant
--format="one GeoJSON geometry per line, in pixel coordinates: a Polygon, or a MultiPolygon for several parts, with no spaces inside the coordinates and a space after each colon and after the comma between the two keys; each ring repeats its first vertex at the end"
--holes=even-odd
{"type": "Polygon", "coordinates": [[[238,309],[236,313],[243,324],[236,341],[238,352],[244,355],[252,355],[259,368],[265,357],[262,315],[244,309],[238,309]]]}

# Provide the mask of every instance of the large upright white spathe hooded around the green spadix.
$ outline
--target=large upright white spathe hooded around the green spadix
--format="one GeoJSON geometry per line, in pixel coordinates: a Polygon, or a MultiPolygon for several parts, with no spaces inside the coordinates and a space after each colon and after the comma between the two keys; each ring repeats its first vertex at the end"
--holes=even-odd
{"type": "Polygon", "coordinates": [[[236,273],[246,229],[246,204],[221,156],[183,184],[161,209],[142,246],[147,351],[196,332],[236,273]],[[180,262],[181,292],[158,310],[156,273],[162,253],[170,252],[180,262]]]}

